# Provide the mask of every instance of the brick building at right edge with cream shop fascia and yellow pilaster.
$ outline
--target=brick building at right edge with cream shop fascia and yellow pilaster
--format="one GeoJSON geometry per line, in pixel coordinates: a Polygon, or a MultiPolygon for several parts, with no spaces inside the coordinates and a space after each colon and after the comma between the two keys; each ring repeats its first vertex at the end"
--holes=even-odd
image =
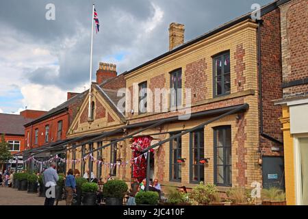
{"type": "Polygon", "coordinates": [[[285,192],[287,205],[308,205],[308,1],[281,1],[285,192]]]}

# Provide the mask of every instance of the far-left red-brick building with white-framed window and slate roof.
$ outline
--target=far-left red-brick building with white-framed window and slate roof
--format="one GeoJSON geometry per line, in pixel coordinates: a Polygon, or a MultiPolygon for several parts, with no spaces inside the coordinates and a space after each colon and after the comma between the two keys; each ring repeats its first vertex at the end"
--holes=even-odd
{"type": "MultiPolygon", "coordinates": [[[[19,115],[0,114],[0,135],[4,134],[4,139],[10,144],[11,154],[20,153],[26,149],[25,146],[25,125],[35,118],[45,114],[44,111],[25,110],[19,115]]],[[[14,160],[13,162],[16,161],[14,160]]],[[[12,165],[14,167],[14,164],[12,165]]]]}

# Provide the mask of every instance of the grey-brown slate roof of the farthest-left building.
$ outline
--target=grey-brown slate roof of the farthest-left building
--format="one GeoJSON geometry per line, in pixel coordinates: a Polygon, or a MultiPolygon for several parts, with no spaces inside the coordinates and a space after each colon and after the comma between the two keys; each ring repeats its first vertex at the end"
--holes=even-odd
{"type": "Polygon", "coordinates": [[[32,118],[25,118],[15,114],[0,114],[0,133],[10,135],[25,135],[25,125],[30,123],[32,118]]]}

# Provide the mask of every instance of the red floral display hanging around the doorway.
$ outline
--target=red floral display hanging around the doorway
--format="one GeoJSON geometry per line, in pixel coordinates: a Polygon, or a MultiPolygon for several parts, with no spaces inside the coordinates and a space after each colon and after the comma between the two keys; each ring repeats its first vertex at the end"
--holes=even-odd
{"type": "MultiPolygon", "coordinates": [[[[144,149],[151,145],[151,140],[153,140],[151,136],[136,137],[133,138],[133,144],[131,144],[131,149],[133,150],[133,159],[131,160],[133,177],[138,178],[140,182],[146,177],[146,159],[144,156],[140,157],[140,155],[144,149]]],[[[150,151],[153,152],[154,150],[151,149],[150,151]]]]}

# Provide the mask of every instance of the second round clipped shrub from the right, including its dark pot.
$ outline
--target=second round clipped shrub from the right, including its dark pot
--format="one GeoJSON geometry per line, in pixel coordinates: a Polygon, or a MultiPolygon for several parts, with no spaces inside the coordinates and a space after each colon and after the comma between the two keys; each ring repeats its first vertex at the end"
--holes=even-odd
{"type": "Polygon", "coordinates": [[[103,196],[106,198],[106,205],[122,205],[127,189],[125,181],[116,179],[107,181],[103,186],[103,196]]]}

